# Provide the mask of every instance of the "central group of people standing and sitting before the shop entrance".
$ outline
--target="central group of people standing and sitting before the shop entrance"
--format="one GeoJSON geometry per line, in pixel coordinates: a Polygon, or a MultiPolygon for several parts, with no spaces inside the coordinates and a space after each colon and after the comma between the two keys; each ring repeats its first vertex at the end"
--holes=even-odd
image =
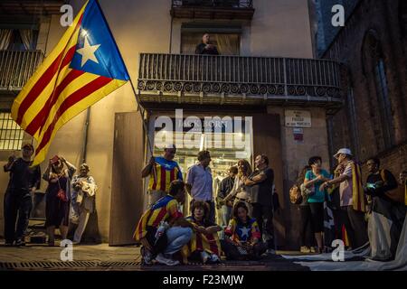
{"type": "Polygon", "coordinates": [[[218,191],[213,191],[209,151],[197,154],[197,163],[188,168],[185,181],[175,154],[172,144],[163,156],[153,156],[142,171],[143,177],[150,177],[149,208],[134,237],[143,246],[143,262],[155,260],[170,266],[192,260],[219,263],[222,254],[230,260],[247,260],[273,253],[274,173],[267,155],[256,157],[254,171],[247,160],[239,160],[218,191]],[[185,218],[180,207],[185,205],[186,193],[191,215],[185,218]],[[219,224],[215,208],[221,210],[219,224]]]}

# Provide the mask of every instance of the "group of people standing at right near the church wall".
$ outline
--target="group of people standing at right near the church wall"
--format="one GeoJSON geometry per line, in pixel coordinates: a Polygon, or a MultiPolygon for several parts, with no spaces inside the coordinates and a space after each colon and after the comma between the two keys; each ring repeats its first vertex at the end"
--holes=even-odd
{"type": "Polygon", "coordinates": [[[290,200],[300,211],[300,251],[322,253],[339,238],[349,250],[370,243],[373,258],[392,259],[407,211],[406,172],[397,182],[392,172],[380,168],[379,159],[372,158],[366,162],[363,182],[361,166],[349,149],[340,149],[335,158],[332,175],[321,168],[321,157],[309,158],[290,190],[290,200]],[[327,211],[332,212],[333,226],[327,211]],[[375,214],[384,219],[372,218],[375,214]],[[388,244],[386,239],[391,239],[388,244]],[[376,244],[381,252],[375,252],[376,244]]]}

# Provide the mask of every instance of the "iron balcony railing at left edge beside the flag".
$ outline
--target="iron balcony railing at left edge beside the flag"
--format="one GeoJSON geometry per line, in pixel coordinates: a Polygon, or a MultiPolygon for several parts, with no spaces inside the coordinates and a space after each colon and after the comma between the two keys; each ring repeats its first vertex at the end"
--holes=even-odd
{"type": "Polygon", "coordinates": [[[18,93],[43,62],[43,51],[0,51],[0,93],[18,93]]]}

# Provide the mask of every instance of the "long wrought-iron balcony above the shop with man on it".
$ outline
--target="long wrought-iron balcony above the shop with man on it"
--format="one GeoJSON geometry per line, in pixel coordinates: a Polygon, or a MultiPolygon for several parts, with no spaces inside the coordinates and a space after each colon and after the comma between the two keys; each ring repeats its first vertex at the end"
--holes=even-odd
{"type": "Polygon", "coordinates": [[[336,61],[140,54],[143,103],[342,105],[345,70],[336,61]]]}

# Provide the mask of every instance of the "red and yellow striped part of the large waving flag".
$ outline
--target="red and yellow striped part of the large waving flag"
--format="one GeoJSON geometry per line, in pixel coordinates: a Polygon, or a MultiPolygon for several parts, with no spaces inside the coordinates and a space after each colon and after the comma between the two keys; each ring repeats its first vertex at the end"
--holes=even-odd
{"type": "Polygon", "coordinates": [[[12,117],[38,144],[33,165],[64,124],[127,82],[70,68],[86,5],[14,100],[12,117]]]}

